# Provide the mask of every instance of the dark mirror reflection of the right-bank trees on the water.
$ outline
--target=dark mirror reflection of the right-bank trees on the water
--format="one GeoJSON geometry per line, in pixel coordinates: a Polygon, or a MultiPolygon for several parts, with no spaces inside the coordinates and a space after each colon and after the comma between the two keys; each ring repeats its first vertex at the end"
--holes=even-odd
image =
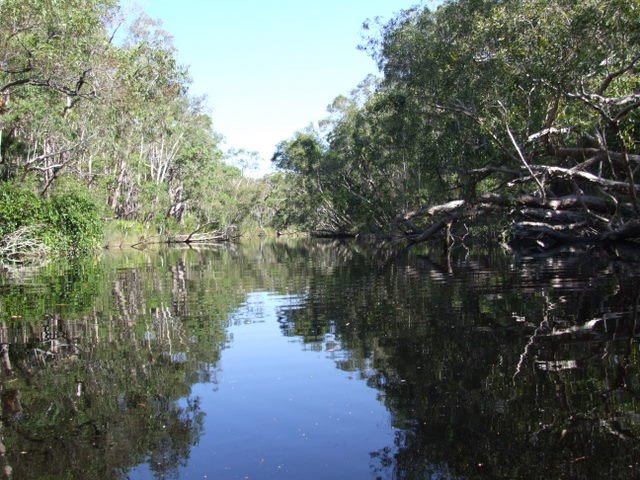
{"type": "Polygon", "coordinates": [[[309,279],[280,323],[311,343],[335,333],[338,367],[380,391],[401,429],[372,455],[389,476],[637,475],[637,270],[593,254],[482,253],[450,265],[354,256],[309,279]]]}

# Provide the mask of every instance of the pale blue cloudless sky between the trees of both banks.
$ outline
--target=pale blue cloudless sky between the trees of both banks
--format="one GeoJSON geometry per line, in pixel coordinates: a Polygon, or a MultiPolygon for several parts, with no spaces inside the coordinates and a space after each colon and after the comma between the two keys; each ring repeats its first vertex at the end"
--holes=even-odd
{"type": "Polygon", "coordinates": [[[131,0],[174,37],[178,61],[189,67],[191,92],[206,95],[223,149],[261,159],[268,172],[276,145],[324,117],[375,61],[357,49],[367,19],[393,18],[433,0],[131,0]]]}

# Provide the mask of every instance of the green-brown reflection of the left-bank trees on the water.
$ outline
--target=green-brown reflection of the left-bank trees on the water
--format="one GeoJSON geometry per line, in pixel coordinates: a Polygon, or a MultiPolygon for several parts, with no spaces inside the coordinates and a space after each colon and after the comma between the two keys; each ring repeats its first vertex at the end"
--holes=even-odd
{"type": "Polygon", "coordinates": [[[0,305],[21,315],[2,316],[0,435],[15,478],[117,478],[145,459],[166,478],[188,458],[202,425],[191,385],[215,382],[225,342],[215,313],[242,298],[193,255],[43,271],[36,291],[7,282],[0,305]]]}

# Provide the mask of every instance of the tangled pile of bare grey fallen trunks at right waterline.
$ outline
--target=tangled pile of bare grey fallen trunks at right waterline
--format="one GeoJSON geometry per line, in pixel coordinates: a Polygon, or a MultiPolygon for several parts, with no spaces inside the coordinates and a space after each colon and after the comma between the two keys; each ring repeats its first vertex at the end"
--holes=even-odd
{"type": "Polygon", "coordinates": [[[471,170],[472,178],[506,176],[503,185],[530,193],[487,192],[469,199],[425,205],[397,216],[395,226],[409,244],[442,238],[445,228],[447,240],[451,226],[461,220],[497,213],[510,220],[505,233],[516,245],[546,249],[558,243],[640,240],[640,184],[634,181],[630,169],[623,168],[640,166],[640,155],[598,148],[562,148],[556,154],[567,161],[583,162],[572,168],[527,163],[520,169],[488,166],[471,170]],[[602,173],[603,162],[610,168],[618,167],[617,173],[609,171],[613,178],[602,173]]]}

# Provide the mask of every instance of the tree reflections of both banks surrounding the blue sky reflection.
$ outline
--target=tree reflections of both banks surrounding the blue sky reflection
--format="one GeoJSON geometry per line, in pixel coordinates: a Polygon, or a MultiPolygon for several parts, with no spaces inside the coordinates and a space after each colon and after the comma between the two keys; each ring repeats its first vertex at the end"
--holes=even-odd
{"type": "Polygon", "coordinates": [[[229,312],[256,289],[291,298],[283,334],[378,390],[398,428],[372,453],[383,477],[638,473],[632,264],[278,241],[60,268],[0,279],[0,461],[16,478],[144,460],[170,477],[200,435],[191,385],[215,382],[229,312]]]}

